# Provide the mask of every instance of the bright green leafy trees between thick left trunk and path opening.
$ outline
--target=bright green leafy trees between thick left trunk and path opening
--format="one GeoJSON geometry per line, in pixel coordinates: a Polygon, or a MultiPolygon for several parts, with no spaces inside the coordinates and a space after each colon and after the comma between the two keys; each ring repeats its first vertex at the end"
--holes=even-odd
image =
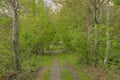
{"type": "Polygon", "coordinates": [[[21,50],[23,52],[45,54],[54,37],[54,25],[43,0],[21,1],[20,14],[21,50]],[[29,3],[29,4],[28,4],[29,3]]]}

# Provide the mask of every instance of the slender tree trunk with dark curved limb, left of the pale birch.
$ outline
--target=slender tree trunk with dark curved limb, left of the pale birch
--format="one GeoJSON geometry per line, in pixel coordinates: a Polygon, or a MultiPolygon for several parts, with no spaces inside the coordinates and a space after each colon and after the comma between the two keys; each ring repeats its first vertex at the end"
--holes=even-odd
{"type": "Polygon", "coordinates": [[[105,0],[91,0],[92,15],[93,15],[93,28],[94,28],[94,55],[95,55],[95,66],[99,63],[99,47],[100,47],[100,25],[103,17],[103,6],[105,0]]]}

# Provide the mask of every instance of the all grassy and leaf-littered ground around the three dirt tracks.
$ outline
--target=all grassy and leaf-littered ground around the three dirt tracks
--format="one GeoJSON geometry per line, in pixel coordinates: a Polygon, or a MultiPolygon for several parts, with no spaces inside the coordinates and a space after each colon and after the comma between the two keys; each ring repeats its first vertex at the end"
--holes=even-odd
{"type": "MultiPolygon", "coordinates": [[[[32,55],[30,58],[23,58],[22,60],[22,72],[17,75],[17,78],[12,80],[34,80],[38,69],[46,66],[48,70],[45,71],[43,80],[50,80],[50,70],[49,68],[54,63],[54,56],[44,55],[37,56],[32,55]],[[31,72],[33,71],[33,72],[31,72]]],[[[96,68],[93,66],[88,66],[80,64],[78,61],[79,56],[77,54],[59,54],[58,62],[61,68],[62,80],[73,80],[72,74],[66,67],[66,62],[71,63],[72,67],[77,71],[81,80],[120,80],[119,73],[102,68],[96,68]]],[[[6,74],[14,73],[14,70],[6,70],[6,74]]]]}

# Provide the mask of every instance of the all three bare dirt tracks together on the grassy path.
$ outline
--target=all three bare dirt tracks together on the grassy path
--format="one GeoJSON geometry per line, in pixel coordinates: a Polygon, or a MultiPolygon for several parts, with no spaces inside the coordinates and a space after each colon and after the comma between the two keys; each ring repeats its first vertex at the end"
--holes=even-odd
{"type": "MultiPolygon", "coordinates": [[[[60,68],[60,65],[59,65],[59,62],[58,62],[58,57],[55,56],[54,63],[50,67],[49,79],[50,80],[62,80],[62,77],[61,77],[61,71],[62,70],[61,69],[64,69],[64,68],[63,67],[60,68]]],[[[66,68],[68,68],[68,70],[70,71],[70,73],[72,75],[71,77],[72,77],[73,80],[80,80],[79,75],[76,73],[76,70],[72,67],[70,62],[66,63],[66,68]]],[[[36,80],[45,80],[44,74],[45,74],[45,71],[47,71],[48,69],[49,68],[44,67],[40,71],[38,71],[38,75],[37,75],[36,80]]]]}

